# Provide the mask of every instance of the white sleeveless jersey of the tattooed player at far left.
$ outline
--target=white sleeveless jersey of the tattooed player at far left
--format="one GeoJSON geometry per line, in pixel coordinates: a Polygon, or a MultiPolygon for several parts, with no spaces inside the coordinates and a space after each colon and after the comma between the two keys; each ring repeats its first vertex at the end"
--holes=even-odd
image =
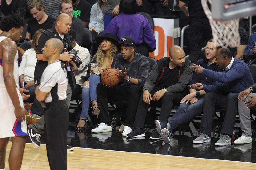
{"type": "MultiPolygon", "coordinates": [[[[8,37],[0,36],[0,43],[8,37]]],[[[14,58],[14,67],[13,67],[13,76],[15,79],[16,86],[19,87],[19,66],[18,66],[18,51],[14,58]]],[[[3,62],[0,59],[0,87],[6,88],[4,84],[4,76],[3,76],[3,62]]]]}

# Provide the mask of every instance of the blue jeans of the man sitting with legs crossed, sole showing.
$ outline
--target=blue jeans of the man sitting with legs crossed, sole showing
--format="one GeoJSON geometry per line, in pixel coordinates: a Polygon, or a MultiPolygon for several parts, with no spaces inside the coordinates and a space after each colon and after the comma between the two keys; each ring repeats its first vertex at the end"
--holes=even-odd
{"type": "Polygon", "coordinates": [[[200,115],[203,110],[204,96],[200,97],[194,104],[182,103],[172,116],[169,123],[171,124],[171,130],[175,131],[177,127],[191,121],[197,115],[200,115]]]}

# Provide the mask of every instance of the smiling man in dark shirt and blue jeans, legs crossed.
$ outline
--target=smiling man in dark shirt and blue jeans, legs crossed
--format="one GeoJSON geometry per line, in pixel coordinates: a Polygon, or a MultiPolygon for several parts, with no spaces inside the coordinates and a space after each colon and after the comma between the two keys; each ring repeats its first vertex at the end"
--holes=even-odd
{"type": "MultiPolygon", "coordinates": [[[[207,42],[205,54],[206,58],[198,60],[195,64],[200,65],[205,69],[209,69],[212,71],[218,71],[218,65],[215,62],[215,54],[217,48],[215,43],[211,40],[207,42]]],[[[209,76],[204,74],[196,74],[193,73],[192,81],[188,86],[196,86],[196,83],[202,83],[206,85],[214,85],[216,80],[212,79],[209,76]]],[[[168,122],[161,122],[160,120],[155,120],[157,132],[161,135],[164,143],[169,143],[170,139],[176,132],[176,129],[190,122],[197,115],[202,114],[203,112],[203,103],[204,103],[204,95],[206,92],[204,90],[195,90],[194,87],[189,87],[189,94],[186,95],[181,101],[180,106],[172,116],[172,119],[168,122]]]]}

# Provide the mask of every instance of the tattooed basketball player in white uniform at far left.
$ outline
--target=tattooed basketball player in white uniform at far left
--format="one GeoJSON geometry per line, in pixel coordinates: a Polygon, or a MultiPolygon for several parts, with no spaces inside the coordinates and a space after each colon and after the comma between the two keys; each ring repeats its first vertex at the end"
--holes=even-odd
{"type": "Polygon", "coordinates": [[[0,29],[0,169],[5,169],[5,153],[12,137],[9,167],[20,169],[26,143],[25,109],[18,80],[18,52],[15,41],[21,38],[23,20],[8,15],[2,19],[0,29]]]}

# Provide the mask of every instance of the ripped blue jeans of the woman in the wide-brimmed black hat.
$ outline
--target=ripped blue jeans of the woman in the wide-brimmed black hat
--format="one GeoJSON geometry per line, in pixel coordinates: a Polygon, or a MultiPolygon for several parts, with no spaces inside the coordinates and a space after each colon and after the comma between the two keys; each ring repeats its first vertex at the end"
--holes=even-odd
{"type": "Polygon", "coordinates": [[[82,111],[80,118],[86,118],[88,115],[89,107],[90,107],[90,101],[97,101],[97,92],[96,87],[98,83],[100,83],[100,76],[96,74],[92,74],[90,76],[89,80],[89,88],[83,87],[82,90],[82,111]]]}

